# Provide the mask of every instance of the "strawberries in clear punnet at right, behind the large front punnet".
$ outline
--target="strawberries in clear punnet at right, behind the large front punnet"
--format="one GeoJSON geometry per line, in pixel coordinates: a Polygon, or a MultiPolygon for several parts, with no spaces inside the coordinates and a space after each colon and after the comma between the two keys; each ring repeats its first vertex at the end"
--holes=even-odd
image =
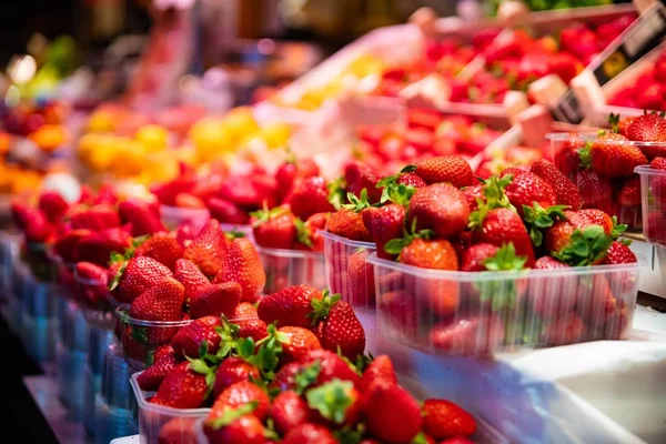
{"type": "Polygon", "coordinates": [[[556,149],[554,162],[581,191],[583,208],[617,214],[642,226],[640,181],[634,168],[666,155],[666,119],[655,112],[638,118],[610,115],[612,131],[586,140],[572,135],[556,149]]]}

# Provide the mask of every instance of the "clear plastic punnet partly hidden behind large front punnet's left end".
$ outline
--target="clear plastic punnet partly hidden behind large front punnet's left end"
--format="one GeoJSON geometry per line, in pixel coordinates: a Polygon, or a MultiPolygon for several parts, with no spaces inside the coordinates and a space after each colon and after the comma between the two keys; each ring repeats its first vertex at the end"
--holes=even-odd
{"type": "Polygon", "coordinates": [[[376,251],[371,242],[351,241],[326,231],[324,238],[326,261],[326,286],[331,293],[340,293],[355,311],[375,311],[375,284],[372,265],[367,258],[376,251]]]}

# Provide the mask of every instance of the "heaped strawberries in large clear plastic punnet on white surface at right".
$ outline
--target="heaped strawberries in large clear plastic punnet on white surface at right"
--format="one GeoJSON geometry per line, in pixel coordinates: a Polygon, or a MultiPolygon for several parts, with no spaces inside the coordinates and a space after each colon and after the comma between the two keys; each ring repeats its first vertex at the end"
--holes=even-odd
{"type": "Polygon", "coordinates": [[[566,287],[576,287],[575,275],[567,280],[551,274],[571,266],[637,260],[617,241],[626,226],[601,210],[581,210],[576,185],[546,160],[535,162],[529,171],[509,168],[478,183],[458,157],[424,159],[374,185],[367,183],[359,196],[349,199],[349,205],[331,215],[327,231],[374,242],[381,259],[472,273],[549,270],[545,276],[554,276],[547,284],[501,276],[461,280],[421,276],[408,268],[404,272],[380,268],[373,276],[365,262],[367,251],[349,256],[347,251],[333,249],[326,258],[332,290],[340,290],[335,276],[342,275],[343,296],[354,306],[372,306],[374,289],[369,283],[380,279],[379,306],[411,344],[487,353],[509,337],[518,343],[561,344],[617,337],[626,329],[625,300],[635,295],[635,274],[601,274],[594,285],[577,292],[566,287]],[[366,293],[350,294],[349,289],[366,293]],[[535,319],[538,327],[525,337],[522,329],[534,327],[535,319]]]}

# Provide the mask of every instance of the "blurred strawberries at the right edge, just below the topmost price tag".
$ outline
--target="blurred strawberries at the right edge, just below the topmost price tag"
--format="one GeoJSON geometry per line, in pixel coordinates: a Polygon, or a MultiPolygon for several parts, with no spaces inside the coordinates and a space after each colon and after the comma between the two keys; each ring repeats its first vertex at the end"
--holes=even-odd
{"type": "Polygon", "coordinates": [[[644,110],[666,111],[666,52],[636,80],[623,85],[609,104],[644,110]]]}

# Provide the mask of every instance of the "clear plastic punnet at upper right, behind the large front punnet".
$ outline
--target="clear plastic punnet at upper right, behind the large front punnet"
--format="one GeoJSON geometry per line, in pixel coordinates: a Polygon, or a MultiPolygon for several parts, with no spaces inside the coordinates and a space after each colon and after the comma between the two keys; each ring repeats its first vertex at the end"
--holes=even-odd
{"type": "MultiPolygon", "coordinates": [[[[583,208],[603,210],[609,215],[617,215],[618,222],[627,224],[629,230],[640,230],[643,225],[640,199],[635,191],[638,175],[628,173],[620,178],[606,178],[593,168],[583,170],[579,165],[577,150],[592,147],[593,143],[599,141],[598,134],[549,133],[546,138],[551,141],[551,160],[578,186],[584,202],[583,208]]],[[[658,154],[666,155],[666,143],[663,142],[608,140],[603,142],[637,147],[648,160],[658,154]]]]}

